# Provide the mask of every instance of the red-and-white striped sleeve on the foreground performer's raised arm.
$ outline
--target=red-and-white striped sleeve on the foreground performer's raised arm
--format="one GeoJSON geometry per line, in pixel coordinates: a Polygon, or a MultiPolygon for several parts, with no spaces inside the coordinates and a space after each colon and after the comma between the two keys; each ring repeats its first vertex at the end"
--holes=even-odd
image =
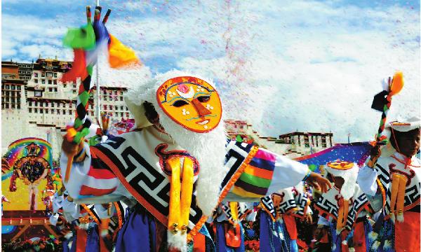
{"type": "MultiPolygon", "coordinates": [[[[60,158],[62,178],[65,178],[67,155],[60,158]]],[[[87,143],[74,157],[69,180],[63,184],[77,203],[107,203],[121,200],[125,194],[119,179],[107,164],[98,158],[87,143]]]]}

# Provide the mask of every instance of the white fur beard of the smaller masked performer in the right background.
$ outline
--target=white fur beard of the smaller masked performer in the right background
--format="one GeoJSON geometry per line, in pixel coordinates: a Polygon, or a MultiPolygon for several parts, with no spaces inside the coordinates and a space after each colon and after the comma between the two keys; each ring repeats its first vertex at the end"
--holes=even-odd
{"type": "Polygon", "coordinates": [[[340,189],[340,194],[344,197],[345,200],[349,200],[358,190],[358,185],[356,184],[356,178],[358,176],[359,167],[354,164],[354,167],[346,170],[333,169],[332,167],[325,167],[326,172],[333,174],[333,176],[340,176],[344,179],[344,184],[340,189]]]}

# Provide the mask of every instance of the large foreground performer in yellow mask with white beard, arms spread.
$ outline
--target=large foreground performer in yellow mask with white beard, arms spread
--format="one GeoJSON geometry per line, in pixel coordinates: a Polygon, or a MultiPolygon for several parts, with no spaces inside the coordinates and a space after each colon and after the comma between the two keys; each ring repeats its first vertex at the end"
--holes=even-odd
{"type": "Polygon", "coordinates": [[[117,251],[156,251],[167,246],[163,241],[185,250],[222,200],[259,201],[302,180],[319,190],[330,187],[307,165],[227,141],[210,80],[171,71],[141,82],[125,98],[135,116],[133,131],[91,147],[62,144],[62,176],[67,155],[74,155],[65,186],[75,202],[139,203],[128,220],[135,230],[126,229],[131,235],[122,235],[117,251]]]}

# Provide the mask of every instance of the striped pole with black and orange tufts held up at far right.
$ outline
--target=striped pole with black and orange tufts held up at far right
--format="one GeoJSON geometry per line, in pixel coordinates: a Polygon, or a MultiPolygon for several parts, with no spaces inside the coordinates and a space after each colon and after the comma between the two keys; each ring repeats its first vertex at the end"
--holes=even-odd
{"type": "MultiPolygon", "coordinates": [[[[374,96],[373,104],[371,105],[371,109],[382,112],[382,118],[380,119],[380,125],[375,137],[375,146],[387,144],[387,138],[382,133],[385,130],[387,113],[389,112],[390,106],[392,106],[392,96],[402,90],[403,73],[401,71],[396,72],[393,78],[389,77],[387,83],[385,82],[383,85],[383,91],[374,96]]],[[[377,158],[371,157],[367,165],[373,168],[376,162],[377,158]]]]}

